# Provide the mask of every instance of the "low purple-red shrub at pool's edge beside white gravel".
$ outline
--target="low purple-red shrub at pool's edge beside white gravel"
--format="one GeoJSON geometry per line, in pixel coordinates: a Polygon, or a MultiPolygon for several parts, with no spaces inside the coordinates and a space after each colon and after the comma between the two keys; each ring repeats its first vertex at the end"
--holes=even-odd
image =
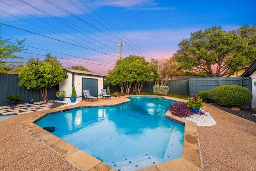
{"type": "Polygon", "coordinates": [[[178,117],[190,117],[193,112],[187,107],[187,103],[180,102],[180,103],[172,103],[169,107],[169,111],[174,116],[178,117]]]}

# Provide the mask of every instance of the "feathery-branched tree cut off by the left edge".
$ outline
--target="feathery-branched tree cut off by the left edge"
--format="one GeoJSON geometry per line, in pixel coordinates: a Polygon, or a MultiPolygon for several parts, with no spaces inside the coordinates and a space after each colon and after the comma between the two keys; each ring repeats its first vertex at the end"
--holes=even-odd
{"type": "MultiPolygon", "coordinates": [[[[1,27],[1,26],[0,26],[1,27]]],[[[13,60],[16,59],[23,59],[22,57],[15,56],[13,53],[15,52],[21,52],[24,49],[24,46],[21,46],[22,43],[26,40],[17,40],[17,45],[14,46],[13,44],[6,44],[8,43],[12,38],[2,40],[2,36],[0,36],[0,73],[14,73],[15,71],[15,65],[16,64],[22,64],[24,62],[15,62],[13,60]],[[8,59],[12,61],[8,61],[8,59]]]]}

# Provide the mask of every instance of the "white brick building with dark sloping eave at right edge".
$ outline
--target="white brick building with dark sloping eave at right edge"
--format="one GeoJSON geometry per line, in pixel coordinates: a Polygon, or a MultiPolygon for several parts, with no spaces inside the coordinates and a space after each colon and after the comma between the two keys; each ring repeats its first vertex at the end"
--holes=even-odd
{"type": "Polygon", "coordinates": [[[250,65],[241,77],[250,77],[252,79],[252,108],[256,108],[256,61],[250,65]]]}

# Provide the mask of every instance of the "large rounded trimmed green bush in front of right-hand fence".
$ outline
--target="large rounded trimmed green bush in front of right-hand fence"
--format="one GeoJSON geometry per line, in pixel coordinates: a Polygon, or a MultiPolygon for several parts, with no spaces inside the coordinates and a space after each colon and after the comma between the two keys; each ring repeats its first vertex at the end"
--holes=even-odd
{"type": "Polygon", "coordinates": [[[222,85],[209,92],[209,98],[217,103],[230,107],[240,107],[252,101],[252,93],[246,87],[222,85]]]}

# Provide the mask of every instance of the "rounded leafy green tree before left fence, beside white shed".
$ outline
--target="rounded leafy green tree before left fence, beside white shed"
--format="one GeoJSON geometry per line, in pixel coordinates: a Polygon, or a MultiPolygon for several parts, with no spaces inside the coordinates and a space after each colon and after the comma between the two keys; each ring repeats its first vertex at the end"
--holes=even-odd
{"type": "Polygon", "coordinates": [[[47,89],[58,85],[68,78],[65,69],[62,68],[60,61],[54,58],[50,53],[46,54],[43,61],[39,58],[30,58],[20,70],[18,85],[27,89],[38,89],[43,97],[47,99],[47,89]]]}

